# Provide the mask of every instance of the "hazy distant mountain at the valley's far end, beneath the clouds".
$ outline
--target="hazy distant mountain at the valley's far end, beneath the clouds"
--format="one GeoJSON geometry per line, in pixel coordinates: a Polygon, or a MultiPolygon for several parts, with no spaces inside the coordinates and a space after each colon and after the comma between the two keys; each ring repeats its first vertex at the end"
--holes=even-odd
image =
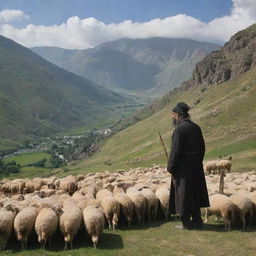
{"type": "Polygon", "coordinates": [[[156,98],[188,79],[195,64],[218,47],[189,39],[124,38],[86,50],[32,50],[108,89],[156,98]]]}

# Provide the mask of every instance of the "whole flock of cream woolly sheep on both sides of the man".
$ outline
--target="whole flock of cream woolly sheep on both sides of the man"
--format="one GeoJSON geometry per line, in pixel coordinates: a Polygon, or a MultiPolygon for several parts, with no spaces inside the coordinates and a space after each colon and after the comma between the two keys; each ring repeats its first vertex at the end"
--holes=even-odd
{"type": "MultiPolygon", "coordinates": [[[[34,230],[45,248],[57,229],[64,249],[72,249],[80,229],[86,230],[96,247],[106,225],[115,230],[120,222],[130,227],[160,217],[168,220],[170,180],[166,169],[156,165],[65,178],[3,179],[0,249],[5,249],[12,233],[21,248],[27,248],[34,230]]],[[[256,220],[256,172],[227,173],[225,194],[218,194],[218,175],[209,174],[206,181],[211,206],[205,209],[205,221],[214,214],[223,217],[225,228],[231,229],[256,220]]]]}

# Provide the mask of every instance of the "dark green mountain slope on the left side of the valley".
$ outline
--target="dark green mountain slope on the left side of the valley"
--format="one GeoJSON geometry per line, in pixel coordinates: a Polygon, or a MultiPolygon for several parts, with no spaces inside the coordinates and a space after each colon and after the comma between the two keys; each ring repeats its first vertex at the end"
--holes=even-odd
{"type": "Polygon", "coordinates": [[[0,147],[120,118],[127,99],[0,36],[0,147]]]}

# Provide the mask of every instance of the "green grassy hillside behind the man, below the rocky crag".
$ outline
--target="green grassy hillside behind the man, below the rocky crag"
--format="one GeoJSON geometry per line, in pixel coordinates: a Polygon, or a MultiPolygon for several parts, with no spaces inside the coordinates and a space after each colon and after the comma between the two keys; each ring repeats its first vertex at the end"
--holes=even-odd
{"type": "Polygon", "coordinates": [[[102,146],[100,153],[74,162],[70,166],[72,173],[165,165],[166,157],[157,131],[161,132],[169,149],[173,130],[171,108],[179,101],[195,105],[191,118],[202,127],[206,159],[232,155],[233,170],[255,169],[255,68],[237,79],[207,89],[197,86],[170,95],[169,103],[162,110],[115,134],[102,146]]]}

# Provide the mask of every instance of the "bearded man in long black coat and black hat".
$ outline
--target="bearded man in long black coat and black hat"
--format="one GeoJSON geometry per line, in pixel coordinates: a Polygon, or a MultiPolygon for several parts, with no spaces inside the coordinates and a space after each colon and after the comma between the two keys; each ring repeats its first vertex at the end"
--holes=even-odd
{"type": "Polygon", "coordinates": [[[209,206],[203,171],[205,144],[200,127],[190,120],[189,106],[178,103],[172,110],[175,130],[167,171],[172,174],[170,213],[179,214],[178,229],[201,227],[201,207],[209,206]],[[191,221],[192,217],[192,221],[191,221]]]}

